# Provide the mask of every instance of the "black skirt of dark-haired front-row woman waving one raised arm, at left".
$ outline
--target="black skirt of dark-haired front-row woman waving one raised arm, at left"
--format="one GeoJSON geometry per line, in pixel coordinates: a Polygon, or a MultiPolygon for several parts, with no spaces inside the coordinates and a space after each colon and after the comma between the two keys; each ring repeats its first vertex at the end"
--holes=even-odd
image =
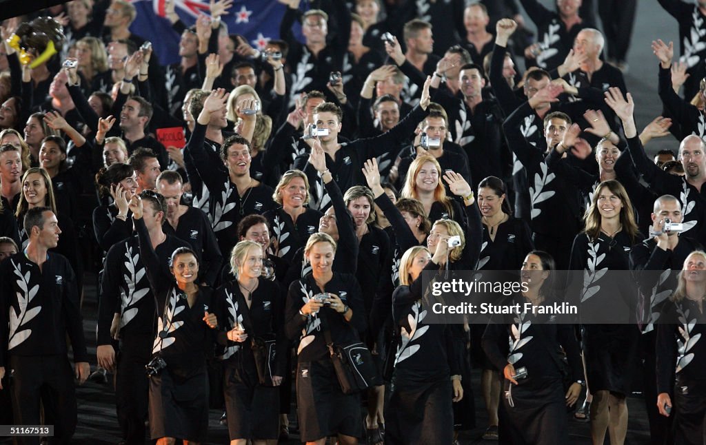
{"type": "Polygon", "coordinates": [[[167,365],[150,378],[150,437],[202,442],[208,430],[206,365],[167,365]]]}

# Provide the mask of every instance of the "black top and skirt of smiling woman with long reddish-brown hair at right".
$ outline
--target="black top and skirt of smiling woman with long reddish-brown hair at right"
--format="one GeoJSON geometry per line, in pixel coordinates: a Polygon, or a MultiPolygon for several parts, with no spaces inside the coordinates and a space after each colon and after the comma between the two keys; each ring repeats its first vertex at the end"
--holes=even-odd
{"type": "Polygon", "coordinates": [[[580,233],[571,250],[570,269],[588,272],[575,275],[583,281],[580,294],[568,298],[580,298],[583,352],[588,386],[593,394],[603,390],[623,396],[630,394],[640,336],[634,319],[637,289],[626,272],[612,272],[609,280],[602,271],[628,271],[632,245],[633,240],[623,231],[614,238],[600,233],[595,239],[580,233]],[[623,280],[621,286],[616,286],[618,279],[623,280]],[[592,323],[587,324],[589,314],[592,323]],[[626,323],[627,320],[631,322],[626,323]]]}

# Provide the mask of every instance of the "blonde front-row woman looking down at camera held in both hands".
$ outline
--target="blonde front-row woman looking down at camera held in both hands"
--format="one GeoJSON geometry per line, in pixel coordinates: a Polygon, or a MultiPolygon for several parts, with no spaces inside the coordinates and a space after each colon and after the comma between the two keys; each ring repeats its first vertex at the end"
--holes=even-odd
{"type": "Polygon", "coordinates": [[[343,394],[327,347],[359,339],[365,331],[363,298],[355,276],[333,272],[336,243],[314,233],[304,248],[311,273],[289,286],[285,331],[297,350],[297,406],[301,440],[323,445],[337,435],[352,445],[361,436],[360,398],[343,394]]]}

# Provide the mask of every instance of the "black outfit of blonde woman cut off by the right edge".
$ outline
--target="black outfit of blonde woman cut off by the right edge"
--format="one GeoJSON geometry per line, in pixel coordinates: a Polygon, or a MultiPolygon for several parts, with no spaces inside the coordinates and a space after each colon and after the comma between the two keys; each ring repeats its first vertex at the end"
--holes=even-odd
{"type": "Polygon", "coordinates": [[[699,304],[668,300],[657,327],[657,394],[674,408],[674,443],[702,445],[706,433],[706,317],[699,304]],[[676,365],[676,367],[675,367],[676,365]]]}

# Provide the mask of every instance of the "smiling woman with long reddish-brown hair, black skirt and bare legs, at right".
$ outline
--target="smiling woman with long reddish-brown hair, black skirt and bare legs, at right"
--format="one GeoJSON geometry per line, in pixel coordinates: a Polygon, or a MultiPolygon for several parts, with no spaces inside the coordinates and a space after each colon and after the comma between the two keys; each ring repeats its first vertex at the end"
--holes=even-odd
{"type": "Polygon", "coordinates": [[[630,292],[634,290],[630,277],[611,274],[609,281],[597,272],[630,270],[630,248],[642,236],[630,197],[615,180],[597,185],[584,221],[585,229],[571,249],[569,269],[585,272],[575,274],[581,289],[569,295],[580,299],[575,303],[580,304],[586,381],[593,396],[591,436],[594,443],[603,443],[610,428],[611,444],[622,444],[628,430],[626,396],[640,336],[635,322],[637,293],[630,292]]]}

